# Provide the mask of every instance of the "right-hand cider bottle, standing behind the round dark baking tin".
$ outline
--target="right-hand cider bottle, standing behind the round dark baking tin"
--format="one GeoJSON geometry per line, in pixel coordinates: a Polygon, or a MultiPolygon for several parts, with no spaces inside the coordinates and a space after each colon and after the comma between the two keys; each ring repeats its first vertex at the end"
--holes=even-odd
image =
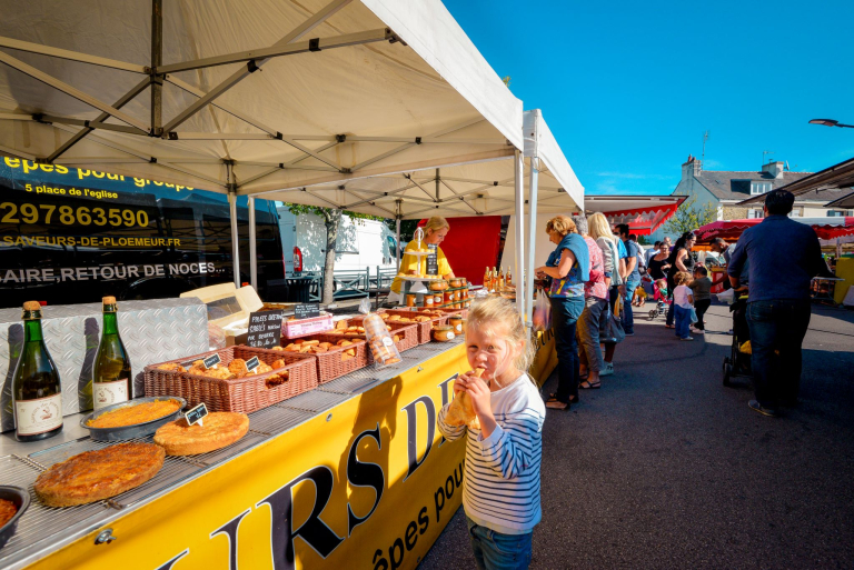
{"type": "Polygon", "coordinates": [[[92,407],[96,411],[133,397],[130,358],[119,336],[115,297],[103,298],[103,329],[92,366],[92,407]]]}

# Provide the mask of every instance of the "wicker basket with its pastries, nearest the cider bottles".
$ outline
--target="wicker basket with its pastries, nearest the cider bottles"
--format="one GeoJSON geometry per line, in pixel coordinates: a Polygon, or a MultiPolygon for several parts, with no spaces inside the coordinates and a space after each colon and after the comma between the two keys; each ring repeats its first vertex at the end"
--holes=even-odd
{"type": "Polygon", "coordinates": [[[210,411],[249,413],[317,388],[317,364],[309,357],[245,346],[227,347],[145,369],[146,396],[178,396],[210,411]],[[219,363],[205,361],[219,356],[219,363]],[[252,370],[258,358],[258,367],[252,370]]]}

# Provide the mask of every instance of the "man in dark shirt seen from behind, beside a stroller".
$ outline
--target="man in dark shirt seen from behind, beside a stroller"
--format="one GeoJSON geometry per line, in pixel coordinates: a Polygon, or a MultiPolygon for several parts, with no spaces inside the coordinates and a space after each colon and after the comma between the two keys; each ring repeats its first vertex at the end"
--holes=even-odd
{"type": "Polygon", "coordinates": [[[810,283],[827,270],[815,231],[787,217],[795,197],[774,190],[765,197],[765,219],[745,230],[726,268],[737,289],[748,264],[747,324],[755,400],[765,416],[795,406],[801,383],[801,344],[810,324],[810,283]]]}

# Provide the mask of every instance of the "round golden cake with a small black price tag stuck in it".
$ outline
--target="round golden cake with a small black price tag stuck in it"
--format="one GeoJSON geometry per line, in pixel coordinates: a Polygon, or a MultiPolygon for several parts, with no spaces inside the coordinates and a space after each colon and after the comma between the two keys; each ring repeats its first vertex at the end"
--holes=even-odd
{"type": "Polygon", "coordinates": [[[249,431],[246,413],[211,412],[202,424],[187,424],[180,418],[162,426],[155,433],[155,443],[168,456],[195,456],[222,449],[238,441],[249,431]]]}

